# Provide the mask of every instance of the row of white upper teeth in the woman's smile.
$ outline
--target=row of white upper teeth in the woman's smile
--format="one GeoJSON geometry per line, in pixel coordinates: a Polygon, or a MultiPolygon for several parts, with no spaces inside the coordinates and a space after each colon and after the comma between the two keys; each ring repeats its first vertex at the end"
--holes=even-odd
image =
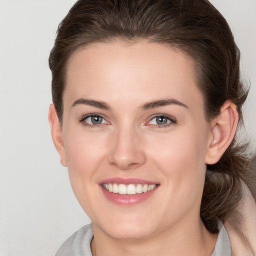
{"type": "Polygon", "coordinates": [[[118,194],[140,194],[142,192],[146,193],[156,187],[156,184],[116,184],[116,183],[105,183],[102,184],[103,187],[109,192],[118,194]]]}

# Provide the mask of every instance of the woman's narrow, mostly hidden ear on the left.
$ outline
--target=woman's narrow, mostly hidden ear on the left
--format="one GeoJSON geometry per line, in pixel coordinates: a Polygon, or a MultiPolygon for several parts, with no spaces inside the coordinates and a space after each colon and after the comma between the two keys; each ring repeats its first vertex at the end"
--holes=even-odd
{"type": "Polygon", "coordinates": [[[60,162],[63,166],[66,166],[64,143],[62,139],[62,129],[54,104],[50,104],[49,106],[48,120],[50,123],[51,137],[55,148],[57,149],[60,156],[60,162]]]}

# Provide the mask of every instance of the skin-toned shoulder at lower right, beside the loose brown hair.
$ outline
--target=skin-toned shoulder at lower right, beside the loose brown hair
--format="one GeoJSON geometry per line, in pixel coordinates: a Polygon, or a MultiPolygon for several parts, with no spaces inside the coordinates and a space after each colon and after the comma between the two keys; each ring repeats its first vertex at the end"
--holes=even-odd
{"type": "Polygon", "coordinates": [[[230,239],[232,255],[254,256],[256,255],[256,202],[246,184],[243,181],[241,183],[242,198],[236,207],[236,213],[231,215],[224,225],[230,239]],[[240,235],[240,231],[247,241],[240,235]]]}

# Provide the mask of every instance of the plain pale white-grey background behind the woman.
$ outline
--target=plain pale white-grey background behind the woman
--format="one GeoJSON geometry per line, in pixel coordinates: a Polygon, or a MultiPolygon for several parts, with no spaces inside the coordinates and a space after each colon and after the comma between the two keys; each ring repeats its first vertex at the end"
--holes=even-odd
{"type": "MultiPolygon", "coordinates": [[[[48,55],[75,0],[0,0],[0,256],[54,255],[89,222],[51,142],[48,55]]],[[[245,128],[256,148],[256,0],[212,0],[241,50],[251,84],[245,128]]]]}

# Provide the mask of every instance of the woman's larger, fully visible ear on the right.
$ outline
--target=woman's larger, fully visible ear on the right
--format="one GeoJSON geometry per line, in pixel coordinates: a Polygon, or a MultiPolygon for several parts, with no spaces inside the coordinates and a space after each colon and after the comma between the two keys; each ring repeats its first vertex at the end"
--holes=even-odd
{"type": "Polygon", "coordinates": [[[205,163],[216,163],[231,143],[238,123],[236,105],[226,100],[220,108],[220,113],[211,121],[211,136],[209,136],[205,163]]]}

